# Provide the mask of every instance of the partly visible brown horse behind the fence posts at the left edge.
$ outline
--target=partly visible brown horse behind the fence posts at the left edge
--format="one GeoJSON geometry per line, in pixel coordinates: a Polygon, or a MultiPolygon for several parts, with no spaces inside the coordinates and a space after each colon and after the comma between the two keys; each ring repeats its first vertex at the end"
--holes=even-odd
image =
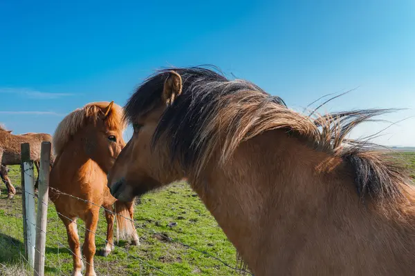
{"type": "MultiPolygon", "coordinates": [[[[21,164],[20,145],[23,143],[30,144],[30,159],[33,160],[37,168],[37,179],[35,182],[35,190],[39,186],[39,161],[40,161],[40,147],[42,141],[52,142],[52,136],[47,133],[28,132],[22,135],[13,135],[12,130],[6,130],[0,126],[0,177],[8,189],[8,198],[12,198],[16,194],[16,189],[8,177],[7,165],[21,164]]],[[[50,156],[51,164],[54,161],[53,155],[50,156]]]]}

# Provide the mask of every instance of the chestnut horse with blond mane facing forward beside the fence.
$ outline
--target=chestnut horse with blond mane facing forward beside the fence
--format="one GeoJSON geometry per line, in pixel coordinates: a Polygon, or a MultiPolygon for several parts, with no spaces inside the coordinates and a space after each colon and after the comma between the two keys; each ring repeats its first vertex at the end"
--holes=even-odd
{"type": "Polygon", "coordinates": [[[50,171],[50,199],[66,226],[68,244],[73,253],[73,273],[81,275],[82,255],[77,235],[77,218],[85,221],[82,253],[86,274],[95,275],[95,230],[100,206],[107,219],[107,242],[103,255],[113,249],[113,204],[115,203],[118,233],[122,239],[140,244],[133,225],[133,199],[116,201],[107,188],[107,173],[125,146],[122,139],[122,108],[111,101],[86,104],[68,114],[57,126],[53,136],[56,161],[50,171]],[[62,193],[59,193],[62,192],[62,193]],[[68,196],[68,195],[72,195],[68,196]],[[77,199],[77,198],[80,199],[77,199]],[[131,221],[126,218],[131,218],[131,221]]]}

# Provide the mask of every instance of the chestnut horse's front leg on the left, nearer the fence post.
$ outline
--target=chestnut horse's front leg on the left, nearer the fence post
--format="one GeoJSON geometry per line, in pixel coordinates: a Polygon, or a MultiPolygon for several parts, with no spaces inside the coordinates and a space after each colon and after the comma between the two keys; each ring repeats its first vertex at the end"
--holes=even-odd
{"type": "Polygon", "coordinates": [[[68,235],[69,248],[72,251],[73,258],[73,272],[72,276],[82,276],[82,269],[84,264],[82,263],[82,255],[80,248],[80,237],[77,235],[76,218],[68,219],[59,215],[59,218],[64,221],[66,227],[66,234],[68,235]]]}

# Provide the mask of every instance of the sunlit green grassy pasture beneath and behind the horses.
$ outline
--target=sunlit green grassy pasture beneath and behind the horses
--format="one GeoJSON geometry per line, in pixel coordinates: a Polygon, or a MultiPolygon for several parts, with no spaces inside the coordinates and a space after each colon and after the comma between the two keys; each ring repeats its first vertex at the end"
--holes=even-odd
{"type": "MultiPolygon", "coordinates": [[[[415,152],[400,152],[399,156],[414,172],[412,177],[415,178],[415,152]]],[[[0,275],[4,275],[6,270],[8,275],[24,275],[19,253],[24,247],[19,166],[12,166],[10,175],[18,195],[14,199],[6,199],[7,192],[2,184],[0,275]]],[[[198,251],[205,251],[230,266],[236,266],[234,247],[187,184],[172,184],[142,197],[136,206],[135,219],[141,245],[136,247],[120,242],[120,247],[108,257],[95,256],[98,275],[163,275],[156,268],[167,275],[239,275],[237,271],[198,251]],[[166,236],[178,242],[171,242],[165,239],[166,236]]],[[[80,220],[78,224],[83,242],[84,224],[80,220]]],[[[104,247],[106,227],[102,212],[98,237],[95,239],[97,251],[104,247]]],[[[46,239],[46,275],[70,275],[72,258],[66,242],[66,231],[62,221],[57,218],[53,204],[49,205],[46,239]]]]}

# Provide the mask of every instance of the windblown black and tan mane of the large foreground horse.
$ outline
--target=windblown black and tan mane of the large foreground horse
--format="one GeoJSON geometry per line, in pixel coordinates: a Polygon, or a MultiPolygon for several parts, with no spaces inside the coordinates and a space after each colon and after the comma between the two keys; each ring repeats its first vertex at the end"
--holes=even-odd
{"type": "Polygon", "coordinates": [[[165,137],[172,161],[178,160],[185,170],[199,174],[214,150],[221,152],[223,165],[241,142],[268,130],[283,129],[315,150],[340,157],[353,172],[362,199],[397,199],[403,196],[403,186],[412,182],[403,166],[371,150],[374,144],[346,138],[358,124],[391,110],[354,110],[310,117],[288,109],[281,98],[249,81],[228,80],[205,68],[159,70],[127,101],[124,119],[134,124],[140,115],[165,104],[161,95],[171,70],[181,75],[182,92],[160,117],[151,146],[154,149],[160,137],[165,137]]]}

